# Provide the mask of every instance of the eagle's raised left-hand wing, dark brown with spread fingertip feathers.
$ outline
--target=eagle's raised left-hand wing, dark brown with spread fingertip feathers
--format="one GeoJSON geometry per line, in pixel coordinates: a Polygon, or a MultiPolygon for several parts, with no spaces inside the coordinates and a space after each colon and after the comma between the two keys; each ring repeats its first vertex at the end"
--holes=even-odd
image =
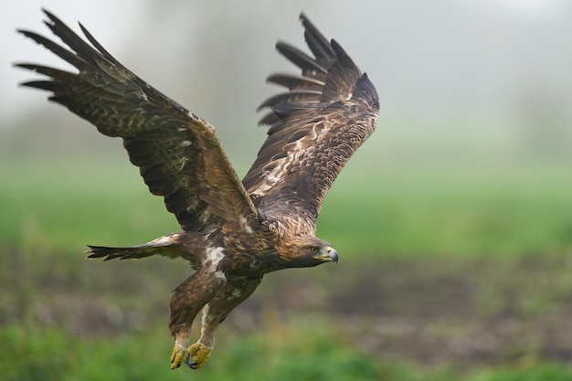
{"type": "Polygon", "coordinates": [[[50,101],[93,123],[107,136],[119,136],[144,182],[185,230],[206,230],[225,221],[258,219],[217,132],[208,122],[135,76],[101,47],[81,25],[92,48],[56,16],[46,25],[71,48],[19,30],[79,69],[71,73],[37,64],[16,66],[49,77],[23,83],[48,90],[50,101]]]}

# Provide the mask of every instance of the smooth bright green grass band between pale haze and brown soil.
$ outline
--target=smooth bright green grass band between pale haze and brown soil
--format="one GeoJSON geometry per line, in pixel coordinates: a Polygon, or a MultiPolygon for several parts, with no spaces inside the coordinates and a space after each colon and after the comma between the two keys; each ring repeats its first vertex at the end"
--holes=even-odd
{"type": "MultiPolygon", "coordinates": [[[[69,250],[126,245],[178,229],[129,164],[0,169],[14,179],[0,189],[5,244],[69,250]]],[[[572,247],[572,177],[564,166],[508,174],[369,170],[344,172],[318,221],[320,236],[343,255],[522,256],[572,247]]]]}

